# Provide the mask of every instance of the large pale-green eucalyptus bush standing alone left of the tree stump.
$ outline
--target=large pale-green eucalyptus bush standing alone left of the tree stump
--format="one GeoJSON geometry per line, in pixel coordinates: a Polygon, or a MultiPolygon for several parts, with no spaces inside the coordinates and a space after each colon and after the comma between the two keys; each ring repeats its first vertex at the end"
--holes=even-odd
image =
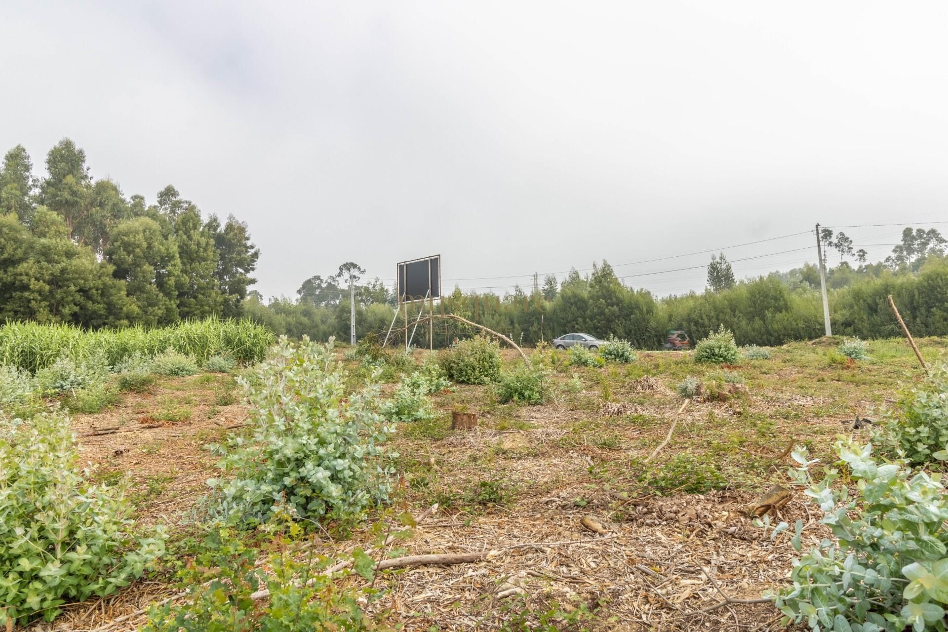
{"type": "Polygon", "coordinates": [[[348,517],[388,497],[392,470],[380,443],[392,425],[374,412],[379,388],[369,383],[346,392],[332,342],[303,337],[294,346],[283,336],[256,372],[256,380],[239,378],[251,438],[235,436],[211,448],[221,456],[218,466],[233,475],[209,481],[217,517],[250,526],[283,503],[301,518],[348,517]]]}

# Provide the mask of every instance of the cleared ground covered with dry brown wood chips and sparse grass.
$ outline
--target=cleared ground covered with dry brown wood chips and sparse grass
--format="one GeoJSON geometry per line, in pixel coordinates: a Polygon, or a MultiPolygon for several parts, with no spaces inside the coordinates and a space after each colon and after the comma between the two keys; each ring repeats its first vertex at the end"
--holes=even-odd
{"type": "MultiPolygon", "coordinates": [[[[935,360],[944,343],[925,339],[921,349],[935,360]]],[[[852,428],[855,415],[875,419],[900,381],[921,377],[902,341],[872,343],[872,358],[859,363],[834,361],[832,349],[792,344],[731,368],[747,392],[687,406],[650,461],[681,406],[678,382],[720,369],[696,366],[683,352],[642,352],[633,364],[594,369],[565,366],[564,356],[543,406],[501,405],[489,387],[436,395],[442,415],[402,426],[392,442],[397,502],[414,515],[440,506],[405,544],[407,554],[492,552],[470,564],[392,571],[378,583],[386,596],[370,607],[390,608],[393,623],[409,630],[529,629],[517,625],[576,607],[593,614],[570,629],[779,628],[773,605],[754,602],[786,581],[795,551],[783,537],[763,537],[747,507],[786,482],[788,446],[831,460],[835,435],[870,436],[871,427],[852,428]],[[450,412],[459,409],[478,412],[479,426],[452,431],[450,412]]],[[[518,361],[513,352],[505,359],[518,361]]],[[[98,479],[127,472],[136,519],[182,537],[204,481],[217,474],[204,446],[243,431],[237,396],[232,378],[213,374],[125,395],[74,419],[82,459],[98,479]]],[[[827,535],[819,517],[796,491],[775,520],[802,520],[807,546],[827,535]]],[[[344,555],[369,537],[327,540],[325,552],[344,555]]],[[[159,574],[68,606],[48,629],[134,630],[143,608],[175,590],[159,574]]]]}

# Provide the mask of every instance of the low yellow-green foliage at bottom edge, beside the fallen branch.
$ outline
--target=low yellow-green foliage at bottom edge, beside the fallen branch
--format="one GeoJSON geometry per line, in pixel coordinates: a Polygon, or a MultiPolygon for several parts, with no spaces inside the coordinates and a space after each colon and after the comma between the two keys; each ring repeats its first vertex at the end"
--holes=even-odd
{"type": "MultiPolygon", "coordinates": [[[[278,536],[268,555],[270,572],[264,572],[255,564],[258,551],[247,548],[227,530],[209,533],[201,553],[179,573],[187,596],[153,606],[143,632],[384,629],[379,626],[382,616],[368,615],[360,605],[360,601],[376,598],[377,590],[371,586],[338,587],[338,573],[325,573],[335,560],[312,554],[297,560],[287,544],[278,536]],[[269,590],[268,599],[251,599],[255,591],[264,588],[269,590]]],[[[363,565],[357,565],[358,569],[363,565]]],[[[372,566],[368,570],[371,572],[372,566]]]]}

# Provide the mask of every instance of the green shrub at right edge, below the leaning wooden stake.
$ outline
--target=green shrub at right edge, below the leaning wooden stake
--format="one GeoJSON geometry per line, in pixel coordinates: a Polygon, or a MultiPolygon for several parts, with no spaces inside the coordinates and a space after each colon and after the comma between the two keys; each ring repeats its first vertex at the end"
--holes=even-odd
{"type": "Polygon", "coordinates": [[[914,465],[925,465],[948,444],[948,367],[938,364],[918,386],[899,391],[884,412],[877,442],[914,465]]]}

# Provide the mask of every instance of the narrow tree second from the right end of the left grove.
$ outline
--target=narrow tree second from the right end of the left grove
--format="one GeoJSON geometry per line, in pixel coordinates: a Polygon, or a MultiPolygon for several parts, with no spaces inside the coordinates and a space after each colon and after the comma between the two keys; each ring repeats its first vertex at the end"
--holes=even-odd
{"type": "Polygon", "coordinates": [[[201,213],[193,205],[177,215],[174,241],[182,277],[177,303],[182,318],[214,316],[224,307],[224,297],[216,278],[215,236],[213,226],[201,222],[201,213]]]}

